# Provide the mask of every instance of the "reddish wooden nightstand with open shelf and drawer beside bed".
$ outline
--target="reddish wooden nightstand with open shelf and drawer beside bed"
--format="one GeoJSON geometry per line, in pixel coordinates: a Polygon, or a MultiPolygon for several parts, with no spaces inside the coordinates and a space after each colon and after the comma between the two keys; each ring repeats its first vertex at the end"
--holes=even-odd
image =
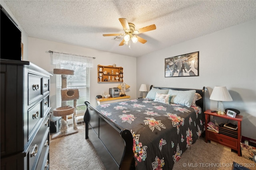
{"type": "Polygon", "coordinates": [[[238,156],[241,156],[241,150],[240,150],[240,139],[241,139],[241,121],[243,119],[243,116],[241,115],[236,115],[236,117],[230,117],[228,115],[221,115],[216,112],[211,112],[211,110],[206,110],[204,112],[205,114],[205,142],[208,143],[208,140],[214,141],[216,143],[219,143],[221,145],[224,145],[226,147],[229,147],[231,149],[237,150],[238,156]],[[238,137],[230,137],[228,135],[224,135],[221,133],[214,133],[212,131],[207,130],[207,123],[210,121],[210,116],[216,116],[216,117],[221,117],[224,119],[229,119],[229,120],[234,120],[237,121],[237,133],[238,137]]]}

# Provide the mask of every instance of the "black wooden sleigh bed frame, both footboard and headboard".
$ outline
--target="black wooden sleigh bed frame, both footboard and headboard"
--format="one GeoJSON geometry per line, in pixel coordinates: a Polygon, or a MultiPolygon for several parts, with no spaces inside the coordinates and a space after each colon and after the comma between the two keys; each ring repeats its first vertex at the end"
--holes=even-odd
{"type": "MultiPolygon", "coordinates": [[[[150,86],[150,90],[153,85],[150,86]]],[[[202,99],[196,101],[196,105],[205,111],[204,91],[202,89],[188,88],[162,88],[172,90],[196,90],[202,96],[202,99]]],[[[85,139],[89,139],[98,155],[100,156],[105,168],[111,170],[135,170],[135,160],[133,157],[133,138],[132,133],[128,129],[122,129],[116,125],[105,115],[90,105],[89,102],[84,102],[87,109],[84,114],[85,122],[85,139]]]]}

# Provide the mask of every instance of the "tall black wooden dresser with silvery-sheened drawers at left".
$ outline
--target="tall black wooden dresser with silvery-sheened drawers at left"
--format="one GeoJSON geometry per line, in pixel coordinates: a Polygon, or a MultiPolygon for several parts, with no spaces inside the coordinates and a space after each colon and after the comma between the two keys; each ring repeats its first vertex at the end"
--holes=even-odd
{"type": "Polygon", "coordinates": [[[48,170],[50,74],[0,59],[1,170],[48,170]]]}

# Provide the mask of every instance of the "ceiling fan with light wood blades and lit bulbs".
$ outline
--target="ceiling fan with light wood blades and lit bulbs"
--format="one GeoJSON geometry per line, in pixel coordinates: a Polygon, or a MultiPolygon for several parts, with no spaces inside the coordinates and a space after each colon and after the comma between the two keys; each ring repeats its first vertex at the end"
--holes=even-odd
{"type": "Polygon", "coordinates": [[[122,33],[103,34],[103,36],[124,36],[124,39],[119,44],[119,46],[125,44],[125,45],[129,45],[129,48],[130,48],[131,41],[133,43],[136,43],[137,41],[139,41],[140,43],[144,44],[147,42],[147,40],[143,39],[142,37],[139,37],[138,34],[156,29],[155,24],[148,25],[148,26],[140,28],[140,29],[135,29],[135,25],[133,23],[128,23],[126,18],[119,18],[119,21],[124,28],[124,34],[122,34],[122,33]]]}

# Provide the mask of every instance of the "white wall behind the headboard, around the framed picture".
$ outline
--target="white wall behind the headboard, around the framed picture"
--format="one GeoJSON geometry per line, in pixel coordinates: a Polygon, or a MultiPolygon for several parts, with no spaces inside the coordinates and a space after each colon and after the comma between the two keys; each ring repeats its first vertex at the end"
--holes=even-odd
{"type": "Polygon", "coordinates": [[[242,135],[256,139],[256,20],[137,58],[137,91],[142,83],[148,88],[206,86],[206,109],[217,107],[217,101],[209,99],[214,86],[226,86],[233,101],[224,102],[225,108],[240,110],[242,135]],[[199,76],[164,77],[165,58],[196,51],[199,76]]]}

